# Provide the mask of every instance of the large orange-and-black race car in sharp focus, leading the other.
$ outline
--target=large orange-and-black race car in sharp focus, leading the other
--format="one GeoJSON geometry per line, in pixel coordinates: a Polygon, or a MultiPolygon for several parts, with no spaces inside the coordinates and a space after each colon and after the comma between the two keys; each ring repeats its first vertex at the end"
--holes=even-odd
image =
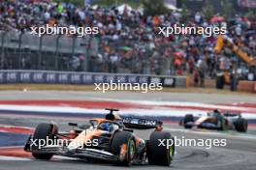
{"type": "Polygon", "coordinates": [[[154,164],[169,166],[175,156],[174,138],[164,132],[163,123],[135,117],[119,117],[113,111],[105,119],[91,119],[89,125],[69,123],[69,132],[60,132],[55,124],[37,126],[25,144],[24,150],[37,159],[54,155],[79,157],[88,161],[110,160],[122,165],[154,164]],[[138,137],[135,129],[150,129],[148,140],[138,137]],[[45,142],[44,142],[45,141],[45,142]],[[50,142],[46,142],[50,141],[50,142]],[[159,141],[169,141],[160,145],[159,141]],[[173,142],[171,142],[173,141],[173,142]]]}

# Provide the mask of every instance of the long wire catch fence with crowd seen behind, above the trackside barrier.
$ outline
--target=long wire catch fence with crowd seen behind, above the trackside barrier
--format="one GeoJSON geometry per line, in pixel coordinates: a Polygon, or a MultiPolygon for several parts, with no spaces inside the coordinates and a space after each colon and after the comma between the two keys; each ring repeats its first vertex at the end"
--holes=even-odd
{"type": "Polygon", "coordinates": [[[0,69],[174,74],[172,59],[162,57],[170,44],[157,50],[149,46],[146,41],[113,41],[110,36],[39,37],[0,30],[0,69]]]}

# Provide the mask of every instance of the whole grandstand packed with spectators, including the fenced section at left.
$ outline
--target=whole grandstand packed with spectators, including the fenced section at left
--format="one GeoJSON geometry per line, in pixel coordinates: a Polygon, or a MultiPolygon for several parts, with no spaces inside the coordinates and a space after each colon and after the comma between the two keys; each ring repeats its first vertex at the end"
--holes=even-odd
{"type": "Polygon", "coordinates": [[[138,9],[124,8],[120,13],[113,7],[76,7],[51,1],[2,1],[0,11],[2,70],[189,75],[193,80],[197,74],[201,79],[214,79],[217,71],[229,71],[236,63],[240,79],[246,80],[251,72],[247,63],[255,62],[256,23],[239,14],[212,21],[201,13],[191,13],[184,20],[179,11],[148,16],[138,9]],[[30,34],[31,26],[45,24],[97,26],[100,34],[82,38],[30,34]],[[232,44],[224,50],[223,46],[219,47],[216,53],[216,36],[166,38],[157,34],[158,26],[173,24],[226,25],[226,36],[232,44]],[[242,49],[235,44],[242,44],[242,49]]]}

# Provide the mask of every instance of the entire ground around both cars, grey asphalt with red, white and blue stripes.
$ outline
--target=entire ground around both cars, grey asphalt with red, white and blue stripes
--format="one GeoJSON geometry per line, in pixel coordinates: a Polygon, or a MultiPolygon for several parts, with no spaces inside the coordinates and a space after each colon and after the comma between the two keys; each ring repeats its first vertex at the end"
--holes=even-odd
{"type": "MultiPolygon", "coordinates": [[[[171,167],[134,165],[131,169],[255,169],[256,97],[236,94],[128,93],[72,91],[0,92],[0,169],[127,169],[107,162],[87,162],[54,156],[35,160],[23,152],[28,135],[42,122],[54,122],[68,130],[69,122],[85,124],[89,118],[103,117],[104,108],[118,108],[120,115],[159,119],[172,135],[190,139],[227,139],[227,146],[177,147],[171,167]],[[204,115],[213,109],[240,112],[249,121],[247,133],[183,129],[177,122],[185,114],[204,115]]],[[[136,130],[147,139],[150,130],[136,130]]]]}

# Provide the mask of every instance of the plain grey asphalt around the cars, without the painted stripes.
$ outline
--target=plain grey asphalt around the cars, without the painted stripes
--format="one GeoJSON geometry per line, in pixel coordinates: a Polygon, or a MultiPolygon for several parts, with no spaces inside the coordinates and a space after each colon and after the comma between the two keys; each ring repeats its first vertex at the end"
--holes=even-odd
{"type": "MultiPolygon", "coordinates": [[[[214,95],[214,94],[170,94],[170,93],[93,93],[93,92],[0,92],[0,99],[148,99],[148,100],[178,100],[178,101],[199,101],[225,103],[233,102],[255,102],[255,96],[235,96],[235,95],[214,95]]],[[[86,120],[78,118],[30,118],[1,115],[0,124],[36,127],[41,122],[56,122],[61,129],[67,129],[68,122],[84,123],[86,120]]],[[[243,135],[233,132],[219,131],[198,131],[184,130],[174,124],[165,124],[167,131],[171,131],[177,138],[184,136],[187,139],[227,139],[226,147],[177,147],[176,157],[171,167],[134,165],[130,169],[232,169],[232,170],[255,170],[256,169],[256,137],[255,128],[250,128],[249,134],[243,135]]],[[[148,138],[148,130],[137,130],[136,133],[148,138]]],[[[127,167],[116,166],[106,162],[86,162],[77,159],[53,159],[43,160],[0,160],[0,170],[112,170],[128,169],[127,167]]]]}

